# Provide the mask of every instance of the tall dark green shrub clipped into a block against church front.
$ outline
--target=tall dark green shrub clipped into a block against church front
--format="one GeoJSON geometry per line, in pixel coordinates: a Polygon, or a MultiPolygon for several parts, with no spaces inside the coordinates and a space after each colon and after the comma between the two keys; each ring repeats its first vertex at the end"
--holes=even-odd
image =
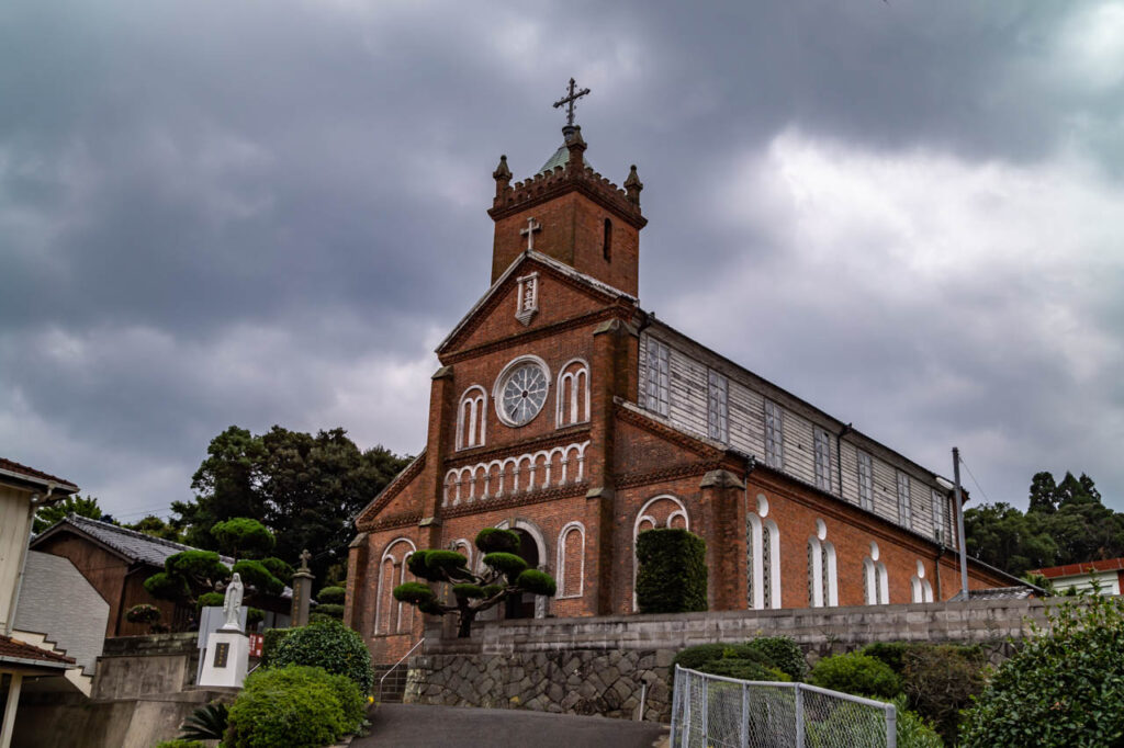
{"type": "Polygon", "coordinates": [[[642,613],[707,609],[706,542],[678,528],[645,530],[636,538],[636,603],[642,613]]]}

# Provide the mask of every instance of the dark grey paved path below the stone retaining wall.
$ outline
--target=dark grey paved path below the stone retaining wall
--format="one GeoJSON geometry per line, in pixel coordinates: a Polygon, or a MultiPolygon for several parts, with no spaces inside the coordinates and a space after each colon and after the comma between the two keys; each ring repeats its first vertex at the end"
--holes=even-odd
{"type": "Polygon", "coordinates": [[[663,724],[605,717],[382,704],[371,712],[371,735],[351,748],[652,748],[667,735],[663,724]]]}

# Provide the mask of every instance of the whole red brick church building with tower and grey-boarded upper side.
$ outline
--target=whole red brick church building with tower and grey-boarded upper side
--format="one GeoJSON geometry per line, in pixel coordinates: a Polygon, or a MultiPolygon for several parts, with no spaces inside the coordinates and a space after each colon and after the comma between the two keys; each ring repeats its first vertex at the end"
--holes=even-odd
{"type": "MultiPolygon", "coordinates": [[[[572,92],[571,92],[572,93],[572,92]]],[[[710,610],[879,605],[960,590],[948,481],[644,311],[643,184],[586,161],[581,129],[532,177],[493,174],[491,285],[437,348],[425,449],[356,520],[345,621],[390,663],[422,636],[391,590],[418,548],[475,564],[523,538],[553,599],[498,617],[635,611],[634,541],[707,544],[710,610]]],[[[973,589],[1013,584],[969,565],[973,589]]]]}

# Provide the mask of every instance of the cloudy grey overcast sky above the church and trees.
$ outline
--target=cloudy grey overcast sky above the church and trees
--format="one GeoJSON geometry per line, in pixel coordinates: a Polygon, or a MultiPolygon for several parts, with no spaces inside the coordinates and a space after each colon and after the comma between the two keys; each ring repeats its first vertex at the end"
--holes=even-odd
{"type": "Polygon", "coordinates": [[[1121,2],[6,0],[0,456],[132,521],[232,423],[416,454],[571,75],[646,309],[976,501],[1124,510],[1121,2]]]}

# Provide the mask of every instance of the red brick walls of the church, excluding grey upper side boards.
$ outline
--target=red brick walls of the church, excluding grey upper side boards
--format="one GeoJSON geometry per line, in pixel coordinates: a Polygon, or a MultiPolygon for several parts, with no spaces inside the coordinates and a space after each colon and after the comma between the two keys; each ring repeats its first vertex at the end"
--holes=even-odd
{"type": "MultiPolygon", "coordinates": [[[[532,560],[562,577],[558,598],[522,612],[547,620],[632,614],[634,536],[655,526],[701,535],[710,610],[744,611],[747,517],[762,499],[779,532],[782,608],[809,605],[807,549],[817,531],[835,550],[841,606],[865,602],[871,544],[887,568],[890,603],[913,600],[918,569],[937,600],[951,598],[959,587],[951,551],[637,407],[640,332],[649,321],[634,298],[645,222],[638,180],[617,189],[582,165],[583,150],[578,134],[564,167],[515,185],[506,162],[497,170],[489,211],[496,285],[437,350],[425,451],[356,521],[345,621],[375,663],[395,663],[423,636],[423,617],[391,596],[410,578],[408,554],[459,547],[474,563],[472,539],[493,526],[532,538],[532,560]],[[534,253],[519,232],[531,218],[542,227],[534,253]],[[532,274],[537,309],[520,318],[519,279],[532,274]],[[505,425],[495,402],[504,372],[532,356],[547,372],[545,403],[529,422],[505,425]],[[562,382],[560,374],[579,370],[588,387],[562,382]],[[464,437],[470,391],[486,399],[474,411],[482,439],[464,437]]],[[[970,578],[973,587],[1010,583],[979,566],[970,578]]]]}

